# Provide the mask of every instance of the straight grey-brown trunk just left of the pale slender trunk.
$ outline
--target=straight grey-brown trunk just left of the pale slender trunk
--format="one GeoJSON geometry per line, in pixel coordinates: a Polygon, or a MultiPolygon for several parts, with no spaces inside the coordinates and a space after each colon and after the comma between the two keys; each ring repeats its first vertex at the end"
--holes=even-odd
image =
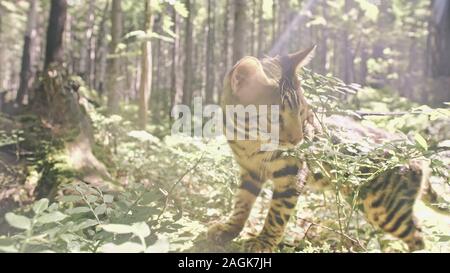
{"type": "Polygon", "coordinates": [[[110,60],[108,65],[108,112],[119,112],[119,72],[120,58],[117,56],[117,47],[122,38],[122,0],[113,0],[111,8],[111,44],[109,46],[110,60]]]}

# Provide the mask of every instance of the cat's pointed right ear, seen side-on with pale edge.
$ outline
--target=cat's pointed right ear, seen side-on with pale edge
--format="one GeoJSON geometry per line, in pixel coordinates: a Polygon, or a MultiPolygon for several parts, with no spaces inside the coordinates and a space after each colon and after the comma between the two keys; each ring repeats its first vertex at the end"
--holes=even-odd
{"type": "Polygon", "coordinates": [[[297,69],[308,65],[316,54],[317,46],[281,57],[283,76],[293,77],[297,69]]]}

